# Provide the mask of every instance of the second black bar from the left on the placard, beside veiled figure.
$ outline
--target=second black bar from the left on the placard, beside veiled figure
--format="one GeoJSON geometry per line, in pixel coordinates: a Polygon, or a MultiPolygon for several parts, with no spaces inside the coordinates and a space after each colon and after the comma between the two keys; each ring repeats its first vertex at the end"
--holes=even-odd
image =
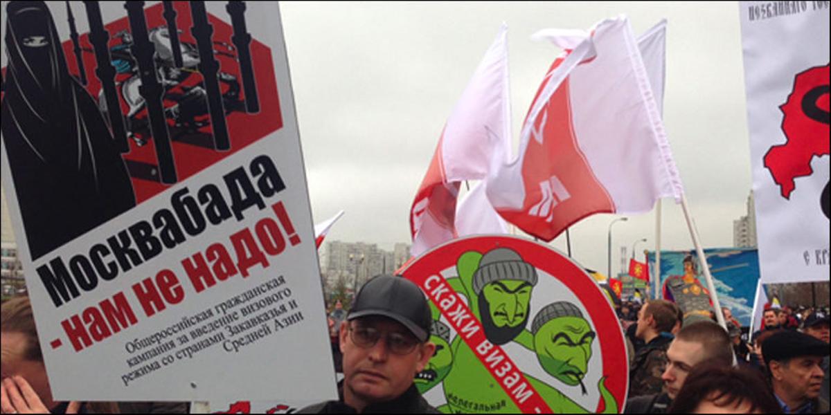
{"type": "Polygon", "coordinates": [[[110,41],[110,33],[104,28],[98,2],[84,2],[84,6],[86,6],[86,20],[90,23],[90,42],[96,51],[96,76],[101,81],[101,89],[104,90],[112,138],[116,141],[119,151],[127,153],[130,151],[130,144],[127,143],[124,115],[121,114],[121,104],[116,92],[116,67],[112,66],[110,46],[107,45],[110,41]]]}

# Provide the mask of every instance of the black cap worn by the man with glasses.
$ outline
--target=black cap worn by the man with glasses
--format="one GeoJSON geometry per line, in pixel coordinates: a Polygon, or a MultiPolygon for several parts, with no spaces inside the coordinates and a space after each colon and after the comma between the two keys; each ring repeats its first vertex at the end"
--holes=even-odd
{"type": "Polygon", "coordinates": [[[401,276],[374,276],[366,281],[352,303],[347,320],[381,315],[396,320],[421,342],[430,338],[432,315],[416,283],[401,276]]]}

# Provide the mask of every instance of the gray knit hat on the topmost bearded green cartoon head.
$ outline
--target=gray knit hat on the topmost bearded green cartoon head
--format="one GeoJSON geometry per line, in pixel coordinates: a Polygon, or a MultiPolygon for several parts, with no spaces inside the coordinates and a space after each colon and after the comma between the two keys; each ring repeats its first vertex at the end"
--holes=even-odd
{"type": "Polygon", "coordinates": [[[523,261],[513,249],[496,248],[485,253],[479,261],[479,269],[473,275],[473,291],[479,295],[484,286],[501,280],[528,281],[536,286],[537,269],[523,261]]]}

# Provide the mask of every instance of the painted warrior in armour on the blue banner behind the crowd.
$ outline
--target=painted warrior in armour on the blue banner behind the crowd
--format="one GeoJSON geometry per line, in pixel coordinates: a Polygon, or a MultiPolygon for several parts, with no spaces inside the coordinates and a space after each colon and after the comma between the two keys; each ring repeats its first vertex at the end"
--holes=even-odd
{"type": "Polygon", "coordinates": [[[664,298],[675,301],[684,312],[684,319],[701,316],[710,319],[712,302],[710,291],[698,279],[698,267],[691,255],[684,257],[684,275],[669,276],[664,281],[664,298]]]}

